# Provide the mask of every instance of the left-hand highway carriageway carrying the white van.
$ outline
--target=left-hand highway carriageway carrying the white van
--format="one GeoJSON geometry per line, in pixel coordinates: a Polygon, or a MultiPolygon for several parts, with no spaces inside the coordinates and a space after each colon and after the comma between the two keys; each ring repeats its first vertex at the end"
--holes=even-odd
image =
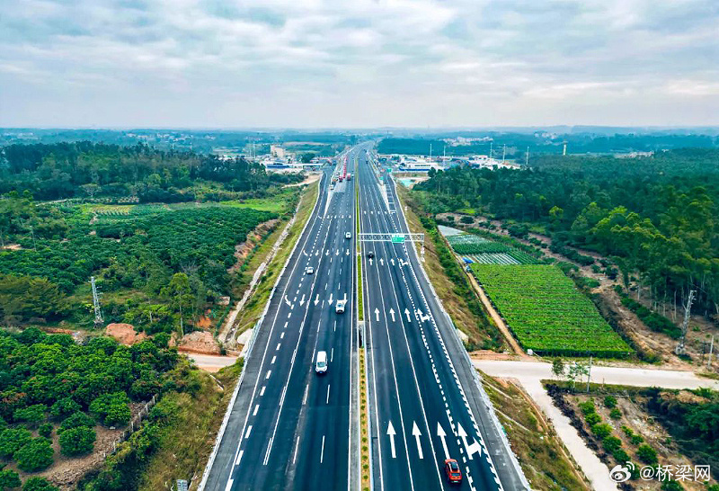
{"type": "MultiPolygon", "coordinates": [[[[348,154],[351,174],[356,153],[348,154]]],[[[324,170],[315,210],[255,333],[206,490],[348,489],[359,475],[350,404],[358,376],[355,193],[353,182],[331,191],[332,172],[324,170]],[[337,299],[348,300],[344,314],[335,313],[337,299]],[[314,370],[319,351],[329,361],[323,376],[314,370]]]]}

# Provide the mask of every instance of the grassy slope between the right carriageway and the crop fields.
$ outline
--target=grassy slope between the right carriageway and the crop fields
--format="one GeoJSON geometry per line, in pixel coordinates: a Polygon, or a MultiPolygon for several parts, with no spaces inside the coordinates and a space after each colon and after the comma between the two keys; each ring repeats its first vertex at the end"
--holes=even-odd
{"type": "Polygon", "coordinates": [[[410,191],[403,185],[398,185],[396,189],[410,231],[425,234],[424,270],[455,326],[469,336],[467,349],[501,349],[504,343],[502,335],[484,311],[474,291],[470,289],[464,273],[458,271],[459,265],[451,256],[444,239],[438,237],[437,228],[425,228],[420,219],[424,216],[421,205],[413,199],[410,191]],[[448,271],[449,268],[456,270],[448,271]],[[458,280],[450,279],[449,273],[458,280]]]}

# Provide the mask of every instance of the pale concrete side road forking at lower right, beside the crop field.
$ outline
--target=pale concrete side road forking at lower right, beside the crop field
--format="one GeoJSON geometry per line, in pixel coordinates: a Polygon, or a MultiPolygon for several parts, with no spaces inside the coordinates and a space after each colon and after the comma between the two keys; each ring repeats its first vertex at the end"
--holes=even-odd
{"type": "MultiPolygon", "coordinates": [[[[542,411],[552,421],[555,431],[572,453],[584,475],[597,491],[618,489],[617,484],[609,478],[608,467],[591,451],[572,426],[568,417],[554,405],[552,398],[546,393],[541,383],[543,379],[553,379],[552,365],[545,362],[510,362],[474,360],[475,368],[493,377],[519,379],[522,387],[541,407],[542,411]]],[[[631,385],[635,387],[661,387],[661,388],[715,388],[719,389],[719,382],[711,379],[702,379],[690,371],[679,370],[651,370],[625,367],[601,367],[591,369],[591,379],[594,382],[607,384],[631,385]]],[[[586,380],[585,380],[586,382],[586,380]]]]}

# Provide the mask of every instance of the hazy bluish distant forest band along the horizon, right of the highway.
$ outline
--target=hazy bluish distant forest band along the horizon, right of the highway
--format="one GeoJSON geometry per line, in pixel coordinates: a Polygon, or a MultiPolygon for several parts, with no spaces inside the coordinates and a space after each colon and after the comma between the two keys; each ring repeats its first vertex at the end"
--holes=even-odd
{"type": "Polygon", "coordinates": [[[448,145],[442,138],[454,138],[456,135],[442,135],[427,138],[384,138],[379,142],[380,154],[407,154],[440,156],[489,155],[493,151],[495,158],[502,158],[502,146],[506,144],[506,157],[519,159],[524,157],[529,147],[530,155],[562,154],[564,142],[572,154],[612,154],[627,152],[651,152],[663,148],[719,147],[719,138],[710,135],[677,134],[615,134],[595,135],[536,133],[507,133],[497,131],[477,132],[466,135],[467,138],[483,138],[466,145],[448,145]]]}

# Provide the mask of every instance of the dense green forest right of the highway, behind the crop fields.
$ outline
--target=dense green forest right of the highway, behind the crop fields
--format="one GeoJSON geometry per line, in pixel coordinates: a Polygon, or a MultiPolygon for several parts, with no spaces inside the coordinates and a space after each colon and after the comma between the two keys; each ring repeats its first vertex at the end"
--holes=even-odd
{"type": "Polygon", "coordinates": [[[697,312],[719,314],[719,150],[540,156],[529,167],[457,166],[414,190],[433,213],[474,209],[614,256],[652,299],[681,302],[697,290],[697,312]]]}

